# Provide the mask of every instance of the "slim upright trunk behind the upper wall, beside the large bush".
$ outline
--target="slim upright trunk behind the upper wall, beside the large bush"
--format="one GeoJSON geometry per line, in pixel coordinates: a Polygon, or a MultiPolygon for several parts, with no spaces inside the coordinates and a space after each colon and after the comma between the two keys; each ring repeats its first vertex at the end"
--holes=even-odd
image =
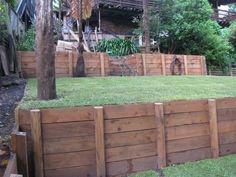
{"type": "Polygon", "coordinates": [[[143,0],[143,27],[144,27],[145,52],[146,53],[150,53],[148,2],[149,2],[149,0],[143,0]]]}

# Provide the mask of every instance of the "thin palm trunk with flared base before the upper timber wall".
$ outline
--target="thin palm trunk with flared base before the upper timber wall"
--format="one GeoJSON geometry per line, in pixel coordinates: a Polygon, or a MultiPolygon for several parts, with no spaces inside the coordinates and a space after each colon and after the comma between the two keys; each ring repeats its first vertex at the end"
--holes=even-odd
{"type": "Polygon", "coordinates": [[[77,77],[85,77],[85,65],[84,65],[84,46],[83,46],[83,29],[82,29],[82,17],[83,17],[83,10],[82,10],[82,0],[79,0],[79,46],[78,50],[78,59],[76,63],[76,71],[75,76],[77,77]]]}

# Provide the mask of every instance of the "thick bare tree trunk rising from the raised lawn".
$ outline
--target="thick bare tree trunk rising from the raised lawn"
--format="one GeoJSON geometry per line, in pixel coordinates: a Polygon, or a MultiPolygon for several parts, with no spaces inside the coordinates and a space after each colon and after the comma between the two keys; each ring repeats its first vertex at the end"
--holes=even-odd
{"type": "Polygon", "coordinates": [[[56,98],[52,0],[36,1],[36,72],[38,99],[56,98]]]}

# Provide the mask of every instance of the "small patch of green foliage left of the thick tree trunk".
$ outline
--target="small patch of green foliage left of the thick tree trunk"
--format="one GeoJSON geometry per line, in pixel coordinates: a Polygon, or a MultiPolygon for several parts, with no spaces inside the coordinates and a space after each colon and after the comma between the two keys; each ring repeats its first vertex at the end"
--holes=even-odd
{"type": "Polygon", "coordinates": [[[25,35],[17,42],[17,50],[20,51],[34,51],[35,47],[35,29],[29,28],[25,35]]]}

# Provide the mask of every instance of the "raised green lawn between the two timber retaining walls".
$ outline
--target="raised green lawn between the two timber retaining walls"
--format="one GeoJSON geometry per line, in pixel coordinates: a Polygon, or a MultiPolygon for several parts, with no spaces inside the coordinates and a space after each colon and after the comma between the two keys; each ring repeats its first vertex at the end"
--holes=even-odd
{"type": "Polygon", "coordinates": [[[57,79],[58,99],[37,101],[28,80],[22,108],[73,107],[236,96],[236,77],[94,77],[57,79]]]}

